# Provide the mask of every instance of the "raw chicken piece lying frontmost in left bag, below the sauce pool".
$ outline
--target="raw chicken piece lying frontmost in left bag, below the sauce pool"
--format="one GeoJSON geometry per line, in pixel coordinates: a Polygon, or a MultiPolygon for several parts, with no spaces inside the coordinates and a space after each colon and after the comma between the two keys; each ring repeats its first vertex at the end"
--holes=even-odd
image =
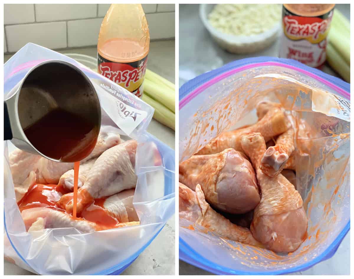
{"type": "MultiPolygon", "coordinates": [[[[39,231],[45,228],[76,228],[78,231],[89,233],[112,228],[97,225],[96,223],[81,218],[73,219],[69,214],[47,207],[25,209],[22,211],[21,215],[26,230],[29,232],[39,231]]],[[[114,228],[136,225],[139,225],[139,222],[125,222],[118,223],[114,228]]]]}

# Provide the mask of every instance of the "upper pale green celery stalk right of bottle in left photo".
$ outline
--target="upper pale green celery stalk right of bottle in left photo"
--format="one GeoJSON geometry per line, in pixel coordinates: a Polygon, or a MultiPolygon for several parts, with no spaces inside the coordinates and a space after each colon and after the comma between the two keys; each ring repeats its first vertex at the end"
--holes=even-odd
{"type": "Polygon", "coordinates": [[[175,112],[175,90],[151,81],[147,78],[144,80],[144,92],[149,94],[151,98],[163,104],[171,111],[175,112]]]}

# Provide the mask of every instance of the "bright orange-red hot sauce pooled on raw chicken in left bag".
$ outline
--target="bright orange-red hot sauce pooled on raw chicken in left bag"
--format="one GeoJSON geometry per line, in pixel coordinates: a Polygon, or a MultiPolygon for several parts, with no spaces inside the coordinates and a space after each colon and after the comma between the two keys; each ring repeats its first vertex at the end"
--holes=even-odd
{"type": "Polygon", "coordinates": [[[103,204],[106,198],[95,199],[92,204],[81,211],[79,215],[74,217],[57,205],[57,201],[63,194],[70,193],[66,188],[58,185],[43,185],[35,184],[31,186],[27,193],[19,200],[18,207],[22,212],[25,209],[34,207],[47,207],[54,210],[67,213],[71,218],[76,220],[86,220],[96,223],[97,230],[114,228],[119,224],[119,221],[110,216],[104,209],[103,204]]]}

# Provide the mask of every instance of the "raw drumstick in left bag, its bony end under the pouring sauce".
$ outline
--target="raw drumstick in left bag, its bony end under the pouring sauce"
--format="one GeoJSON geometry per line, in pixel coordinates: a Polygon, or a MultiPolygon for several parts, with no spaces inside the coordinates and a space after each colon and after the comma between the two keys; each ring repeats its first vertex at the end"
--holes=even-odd
{"type": "MultiPolygon", "coordinates": [[[[87,175],[84,185],[78,190],[77,213],[93,199],[108,197],[136,186],[135,174],[136,140],[125,141],[111,147],[98,157],[87,175]]],[[[57,203],[68,213],[73,212],[73,193],[63,195],[57,203]]]]}

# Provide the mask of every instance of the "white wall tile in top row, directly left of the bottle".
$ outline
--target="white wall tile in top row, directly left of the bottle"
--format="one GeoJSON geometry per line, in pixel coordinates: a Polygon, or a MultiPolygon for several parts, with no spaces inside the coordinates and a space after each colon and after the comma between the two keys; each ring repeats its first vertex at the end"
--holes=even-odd
{"type": "Polygon", "coordinates": [[[62,21],[96,17],[97,4],[35,4],[36,21],[62,21]]]}

